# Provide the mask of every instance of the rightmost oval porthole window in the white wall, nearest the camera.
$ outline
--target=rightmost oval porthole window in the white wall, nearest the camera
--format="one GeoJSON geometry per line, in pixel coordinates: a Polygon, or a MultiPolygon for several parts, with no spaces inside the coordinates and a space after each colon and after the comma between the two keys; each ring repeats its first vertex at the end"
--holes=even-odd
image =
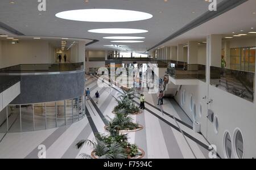
{"type": "Polygon", "coordinates": [[[243,159],[243,155],[244,155],[243,136],[239,129],[237,129],[234,133],[234,147],[235,147],[236,157],[239,159],[243,159]]]}

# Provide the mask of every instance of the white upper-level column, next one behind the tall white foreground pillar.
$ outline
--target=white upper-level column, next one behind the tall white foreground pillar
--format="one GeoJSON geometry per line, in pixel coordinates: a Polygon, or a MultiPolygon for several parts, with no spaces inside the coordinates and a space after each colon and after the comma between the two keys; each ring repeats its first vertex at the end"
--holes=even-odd
{"type": "Polygon", "coordinates": [[[188,64],[197,64],[198,42],[188,42],[188,64]]]}

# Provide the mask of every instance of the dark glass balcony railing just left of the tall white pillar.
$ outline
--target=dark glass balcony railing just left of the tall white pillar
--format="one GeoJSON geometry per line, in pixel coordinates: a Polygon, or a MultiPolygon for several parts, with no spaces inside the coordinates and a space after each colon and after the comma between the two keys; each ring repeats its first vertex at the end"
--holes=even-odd
{"type": "Polygon", "coordinates": [[[205,65],[170,63],[167,69],[167,74],[174,79],[199,79],[205,82],[205,69],[205,65]]]}

